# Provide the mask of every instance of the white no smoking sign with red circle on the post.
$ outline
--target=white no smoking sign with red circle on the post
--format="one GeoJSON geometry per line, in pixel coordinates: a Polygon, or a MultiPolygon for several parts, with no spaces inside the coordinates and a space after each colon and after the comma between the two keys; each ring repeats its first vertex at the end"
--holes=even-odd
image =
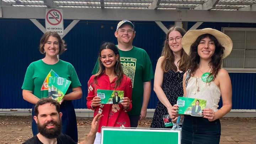
{"type": "Polygon", "coordinates": [[[60,36],[63,36],[63,9],[46,8],[45,14],[46,31],[56,31],[60,36]]]}

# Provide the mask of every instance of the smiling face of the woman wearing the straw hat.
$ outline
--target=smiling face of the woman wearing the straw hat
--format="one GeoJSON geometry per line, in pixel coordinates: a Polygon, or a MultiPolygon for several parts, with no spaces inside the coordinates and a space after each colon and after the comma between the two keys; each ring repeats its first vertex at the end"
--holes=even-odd
{"type": "Polygon", "coordinates": [[[197,46],[197,53],[202,59],[212,58],[215,52],[215,43],[209,38],[202,38],[197,46]]]}

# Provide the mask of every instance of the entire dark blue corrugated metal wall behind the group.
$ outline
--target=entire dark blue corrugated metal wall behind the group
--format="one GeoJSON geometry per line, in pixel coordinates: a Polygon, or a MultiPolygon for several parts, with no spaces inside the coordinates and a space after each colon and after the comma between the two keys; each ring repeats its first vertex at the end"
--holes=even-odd
{"type": "MultiPolygon", "coordinates": [[[[44,25],[44,20],[39,20],[44,25]]],[[[64,21],[64,27],[71,21],[64,21]]],[[[73,64],[82,84],[83,97],[73,101],[75,108],[86,108],[87,81],[94,68],[98,48],[104,41],[117,43],[114,31],[117,21],[80,21],[63,39],[68,50],[60,55],[60,59],[73,64]]],[[[164,22],[166,26],[174,22],[164,22]]],[[[193,26],[188,24],[188,28],[193,26]]],[[[232,27],[234,23],[204,23],[201,28],[232,27]]],[[[242,24],[241,27],[256,27],[242,24]]],[[[235,27],[235,26],[234,26],[235,27]]],[[[160,56],[165,34],[155,22],[135,22],[137,31],[134,46],[143,48],[149,54],[153,70],[160,56]]],[[[0,19],[0,108],[31,108],[32,105],[22,98],[21,86],[27,66],[42,55],[38,51],[42,32],[25,19],[0,19]]],[[[233,109],[256,109],[255,81],[256,74],[230,73],[233,86],[233,109]]],[[[152,81],[153,86],[153,81],[152,81]]],[[[153,89],[148,108],[155,108],[158,101],[153,89]]],[[[222,103],[220,102],[220,105],[222,103]]]]}

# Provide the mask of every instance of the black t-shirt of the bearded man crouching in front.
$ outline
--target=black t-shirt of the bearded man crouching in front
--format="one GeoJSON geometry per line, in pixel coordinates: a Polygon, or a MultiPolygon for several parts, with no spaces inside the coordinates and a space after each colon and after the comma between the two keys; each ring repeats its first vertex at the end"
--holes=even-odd
{"type": "MultiPolygon", "coordinates": [[[[23,144],[43,144],[35,135],[33,138],[28,139],[23,144]]],[[[77,144],[72,138],[70,138],[68,135],[61,133],[57,137],[57,144],[77,144]]]]}

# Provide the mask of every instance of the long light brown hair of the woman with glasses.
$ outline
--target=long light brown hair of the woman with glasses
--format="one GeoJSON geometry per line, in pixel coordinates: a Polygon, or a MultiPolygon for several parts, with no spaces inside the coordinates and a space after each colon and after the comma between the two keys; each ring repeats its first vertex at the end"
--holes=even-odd
{"type": "MultiPolygon", "coordinates": [[[[166,38],[164,41],[164,47],[162,48],[162,54],[161,56],[164,57],[164,60],[161,63],[161,69],[167,73],[167,71],[169,70],[174,70],[177,71],[177,66],[174,64],[174,60],[175,60],[175,55],[172,52],[169,43],[168,43],[168,38],[169,38],[169,34],[172,31],[177,31],[181,34],[181,36],[183,37],[186,33],[186,31],[181,28],[181,27],[176,27],[176,26],[172,26],[169,31],[166,34],[166,38]]],[[[187,59],[187,54],[184,52],[184,50],[181,50],[181,55],[180,55],[181,59],[178,61],[177,65],[179,67],[180,70],[185,71],[186,70],[186,59],[187,59]]]]}

